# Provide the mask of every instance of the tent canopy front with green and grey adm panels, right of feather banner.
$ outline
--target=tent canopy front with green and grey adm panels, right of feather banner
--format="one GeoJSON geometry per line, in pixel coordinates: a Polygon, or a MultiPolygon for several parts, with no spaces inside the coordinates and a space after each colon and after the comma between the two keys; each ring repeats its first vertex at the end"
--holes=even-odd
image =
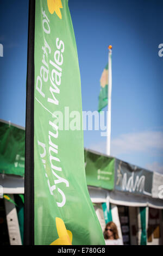
{"type": "Polygon", "coordinates": [[[93,203],[163,209],[163,175],[85,149],[85,172],[93,203]]]}

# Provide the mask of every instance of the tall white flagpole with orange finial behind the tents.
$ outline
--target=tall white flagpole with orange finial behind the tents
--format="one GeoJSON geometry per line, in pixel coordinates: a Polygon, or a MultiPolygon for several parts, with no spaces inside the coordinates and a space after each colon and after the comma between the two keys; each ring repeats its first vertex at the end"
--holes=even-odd
{"type": "Polygon", "coordinates": [[[111,71],[111,55],[112,46],[108,46],[108,113],[107,113],[107,142],[106,154],[110,155],[110,140],[111,140],[111,88],[112,88],[112,71],[111,71]]]}

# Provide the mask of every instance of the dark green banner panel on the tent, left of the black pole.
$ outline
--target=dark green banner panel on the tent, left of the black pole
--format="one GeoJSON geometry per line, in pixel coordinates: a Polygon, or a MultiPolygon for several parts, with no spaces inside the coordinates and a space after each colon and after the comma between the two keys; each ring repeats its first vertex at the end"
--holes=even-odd
{"type": "Polygon", "coordinates": [[[23,127],[0,120],[0,173],[24,175],[23,127]]]}

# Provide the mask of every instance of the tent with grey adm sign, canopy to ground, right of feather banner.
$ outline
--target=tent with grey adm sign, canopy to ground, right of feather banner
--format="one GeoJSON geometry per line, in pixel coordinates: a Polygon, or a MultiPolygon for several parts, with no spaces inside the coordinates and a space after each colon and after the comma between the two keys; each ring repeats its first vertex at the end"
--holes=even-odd
{"type": "Polygon", "coordinates": [[[113,221],[124,245],[162,245],[163,175],[92,150],[84,153],[87,186],[103,231],[113,221]]]}

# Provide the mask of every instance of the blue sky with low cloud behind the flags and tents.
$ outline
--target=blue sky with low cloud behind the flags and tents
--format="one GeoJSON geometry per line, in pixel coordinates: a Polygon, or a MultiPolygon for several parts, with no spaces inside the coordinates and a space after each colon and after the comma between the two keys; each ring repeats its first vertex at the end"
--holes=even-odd
{"type": "MultiPolygon", "coordinates": [[[[99,79],[112,44],[111,155],[163,173],[163,2],[69,0],[83,111],[98,108],[99,79]]],[[[28,1],[0,0],[0,118],[25,125],[28,1]]],[[[105,108],[106,110],[106,108],[105,108]]],[[[100,131],[84,146],[105,153],[100,131]]]]}

